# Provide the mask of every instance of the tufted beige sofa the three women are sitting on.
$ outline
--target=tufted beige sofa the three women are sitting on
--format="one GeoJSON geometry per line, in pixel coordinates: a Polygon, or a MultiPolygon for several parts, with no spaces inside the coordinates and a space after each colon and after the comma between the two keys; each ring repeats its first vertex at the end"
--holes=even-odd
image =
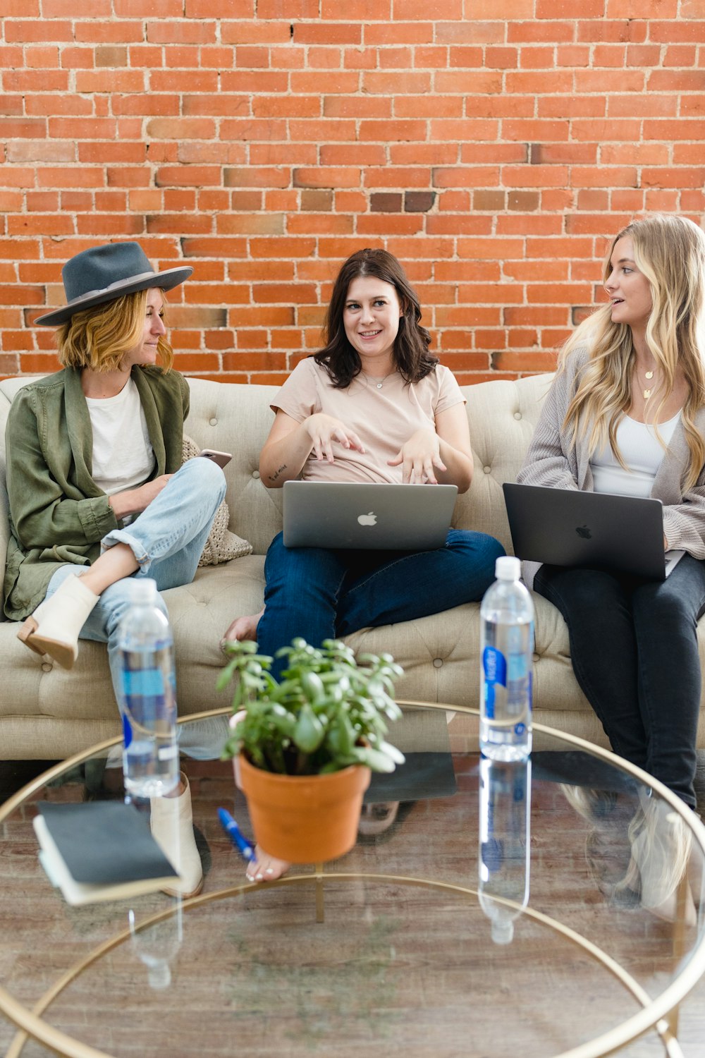
{"type": "MultiPolygon", "coordinates": [[[[502,482],[514,480],[536,422],[550,376],[467,387],[475,480],[460,496],[453,526],[497,536],[511,550],[502,482]]],[[[259,451],[273,421],[274,387],[190,379],[187,433],[202,446],[234,453],[226,468],[230,529],[254,553],[200,569],[192,584],[165,592],[174,631],[180,713],[226,705],[215,691],[222,663],[218,642],[238,614],[262,604],[262,570],[270,541],[281,527],[281,491],[259,480],[259,451]]],[[[21,380],[0,382],[0,434],[21,380]]],[[[7,541],[4,440],[0,456],[0,560],[7,541]]],[[[540,597],[537,609],[535,718],[606,745],[601,728],[577,688],[568,635],[558,612],[540,597]]],[[[366,628],[349,638],[356,651],[389,651],[404,668],[401,698],[476,706],[479,687],[479,606],[471,604],[420,621],[366,628]]],[[[701,630],[704,625],[701,624],[701,630]]],[[[0,758],[58,759],[118,732],[105,646],[82,642],[66,672],[16,639],[17,625],[0,620],[0,758]]],[[[705,640],[705,636],[703,637],[705,640]]],[[[703,651],[705,655],[705,650],[703,651]]],[[[705,745],[701,724],[699,745],[705,745]]]]}

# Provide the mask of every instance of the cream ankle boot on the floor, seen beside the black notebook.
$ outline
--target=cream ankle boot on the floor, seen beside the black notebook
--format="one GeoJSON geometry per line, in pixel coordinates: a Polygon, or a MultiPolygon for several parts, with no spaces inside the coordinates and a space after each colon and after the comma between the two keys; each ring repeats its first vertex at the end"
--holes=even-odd
{"type": "Polygon", "coordinates": [[[183,792],[179,797],[151,798],[152,834],[162,852],[179,873],[179,880],[171,889],[165,889],[168,896],[198,896],[203,889],[203,868],[193,838],[193,816],[191,814],[191,791],[188,779],[180,774],[183,792]]]}

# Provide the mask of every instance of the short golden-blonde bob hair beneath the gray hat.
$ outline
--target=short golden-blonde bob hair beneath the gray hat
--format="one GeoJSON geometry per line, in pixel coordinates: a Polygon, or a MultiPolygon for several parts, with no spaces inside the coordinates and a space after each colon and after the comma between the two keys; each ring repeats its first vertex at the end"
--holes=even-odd
{"type": "MultiPolygon", "coordinates": [[[[164,297],[164,291],[161,291],[164,297]]],[[[114,371],[123,357],[143,339],[147,290],[124,294],[107,305],[75,312],[56,333],[62,367],[114,371]]],[[[156,362],[168,371],[173,363],[171,346],[164,335],[156,345],[156,362]]]]}

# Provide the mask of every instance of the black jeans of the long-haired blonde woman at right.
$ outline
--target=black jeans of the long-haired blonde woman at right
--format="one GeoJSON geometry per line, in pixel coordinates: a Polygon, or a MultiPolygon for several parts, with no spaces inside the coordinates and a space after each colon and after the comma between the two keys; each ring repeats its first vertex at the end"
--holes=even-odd
{"type": "Polygon", "coordinates": [[[576,679],[615,753],[694,808],[705,562],[665,581],[541,566],[534,588],[565,619],[576,679]]]}

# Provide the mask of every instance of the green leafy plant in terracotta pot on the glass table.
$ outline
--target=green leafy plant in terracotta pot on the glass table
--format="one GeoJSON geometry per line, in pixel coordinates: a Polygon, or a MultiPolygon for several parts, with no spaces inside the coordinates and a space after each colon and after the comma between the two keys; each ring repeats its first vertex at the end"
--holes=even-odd
{"type": "Polygon", "coordinates": [[[391,694],[402,669],[389,654],[356,662],[339,640],[317,650],[295,639],[277,654],[287,659],[277,681],[256,643],[234,642],[227,653],[218,689],[237,685],[223,759],[234,759],[258,843],[292,863],[342,856],[355,843],[370,772],[404,763],[386,741],[387,720],[401,716],[391,694]]]}

